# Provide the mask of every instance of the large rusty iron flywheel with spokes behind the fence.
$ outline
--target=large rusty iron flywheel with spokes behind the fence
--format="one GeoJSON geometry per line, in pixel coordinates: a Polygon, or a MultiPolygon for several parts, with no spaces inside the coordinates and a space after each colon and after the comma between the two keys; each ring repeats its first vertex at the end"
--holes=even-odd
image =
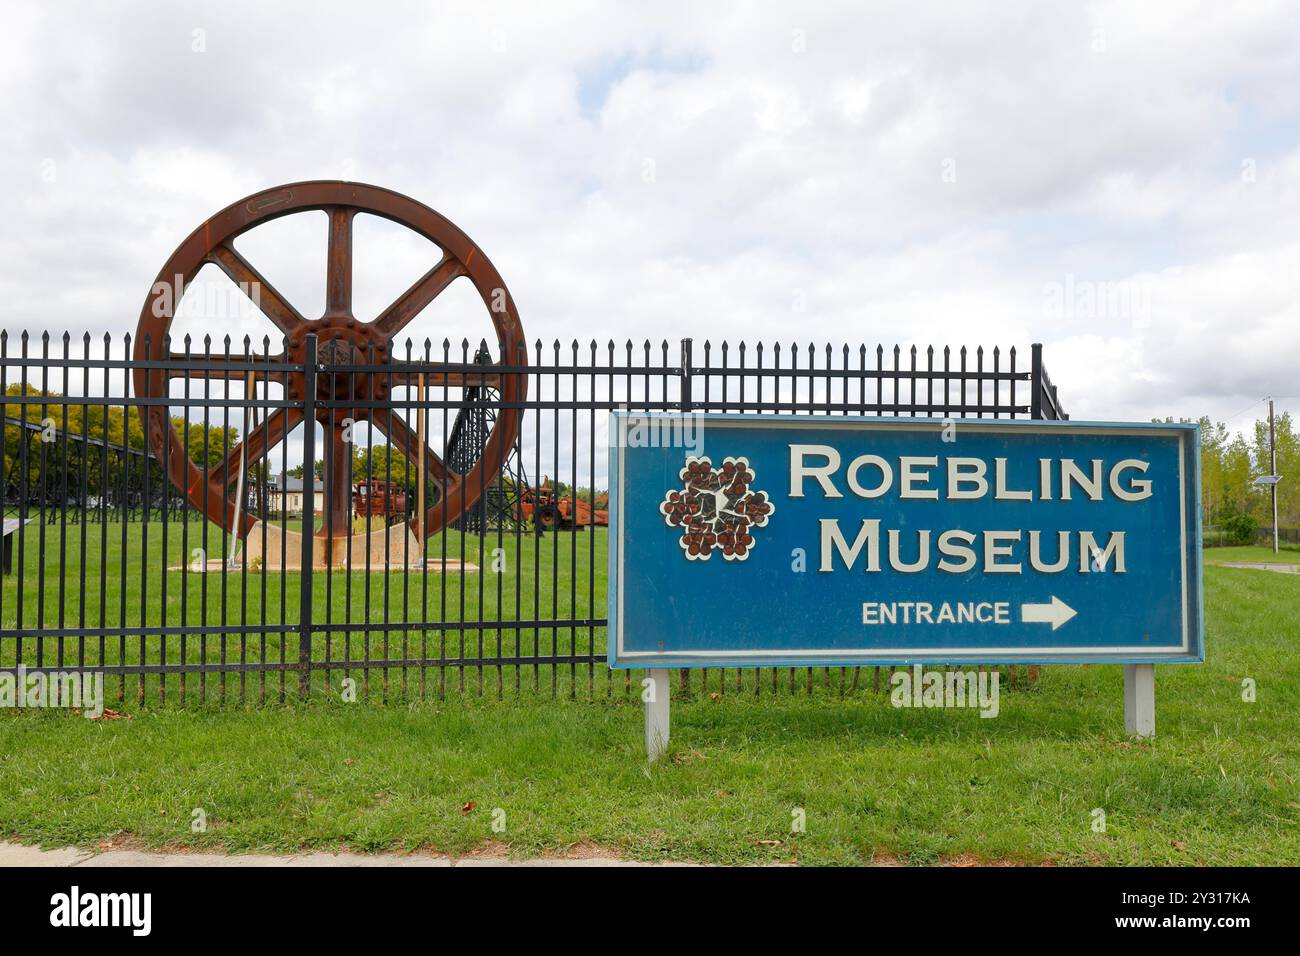
{"type": "Polygon", "coordinates": [[[140,398],[166,398],[169,385],[177,378],[246,380],[248,367],[256,365],[256,381],[274,381],[285,388],[285,397],[294,405],[280,407],[251,434],[231,447],[225,458],[207,470],[207,475],[185,455],[181,437],[172,425],[168,405],[142,405],[140,418],[144,434],[155,458],[166,463],[168,480],[176,485],[192,507],[209,520],[240,537],[255,525],[255,519],[242,514],[231,496],[240,462],[252,466],[268,455],[272,447],[303,423],[302,402],[306,390],[304,364],[307,336],[317,337],[316,398],[333,401],[329,408],[317,406],[316,420],[325,429],[325,522],[317,536],[346,537],[350,533],[348,506],[351,488],[347,467],[351,445],[347,424],[368,420],[384,432],[410,462],[422,454],[429,481],[441,492],[437,507],[428,509],[425,527],[411,520],[411,531],[424,540],[437,532],[443,522],[452,522],[472,507],[500,473],[502,466],[519,437],[523,402],[526,385],[523,371],[495,371],[491,364],[478,365],[481,371],[458,368],[426,362],[412,364],[394,356],[394,337],[411,323],[451,282],[467,277],[477,289],[493,320],[499,346],[499,363],[516,368],[526,364],[524,330],[519,321],[515,300],[500,274],[478,247],[455,224],[422,203],[391,190],[355,182],[317,181],[296,182],[257,193],[228,206],[195,229],[172,254],[151,287],[135,330],[134,356],[136,363],[159,363],[164,367],[142,367],[134,373],[135,394],[140,398]],[[250,229],[270,220],[306,211],[322,211],[329,217],[329,245],[325,263],[325,312],[317,319],[304,317],[283,295],[244,259],[234,239],[250,229]],[[352,312],[352,222],[356,213],[381,216],[404,225],[433,242],[442,250],[442,259],[395,302],[377,316],[363,320],[352,312]],[[170,326],[183,287],[207,264],[218,267],[235,284],[255,286],[257,304],[266,317],[283,333],[285,350],[270,355],[188,355],[172,351],[170,326]],[[176,286],[181,287],[177,289],[176,286]],[[164,297],[166,297],[164,299],[164,297]],[[332,375],[330,368],[341,364],[365,364],[377,371],[332,375]],[[243,369],[221,365],[243,365],[243,369]],[[400,365],[394,368],[393,365],[400,365]],[[482,386],[495,390],[502,402],[495,424],[482,454],[465,473],[456,473],[429,447],[419,447],[416,432],[391,410],[377,407],[386,402],[394,388],[412,386],[419,375],[436,386],[482,386]],[[369,406],[339,410],[339,399],[368,402],[369,406]],[[165,447],[164,447],[165,446],[165,447]],[[235,515],[239,527],[234,527],[235,515]],[[328,529],[328,532],[326,532],[328,529]]]}

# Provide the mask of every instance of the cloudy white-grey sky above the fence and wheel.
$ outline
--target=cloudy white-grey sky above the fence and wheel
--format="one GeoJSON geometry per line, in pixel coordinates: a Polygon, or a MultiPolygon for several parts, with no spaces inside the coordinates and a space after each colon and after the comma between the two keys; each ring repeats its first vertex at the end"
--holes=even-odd
{"type": "MultiPolygon", "coordinates": [[[[777,7],[10,0],[3,326],[131,330],[211,213],[346,178],[459,224],[530,339],[1041,341],[1076,419],[1300,394],[1300,4],[777,7]]],[[[247,239],[322,307],[322,219],[247,239]]],[[[356,248],[359,311],[424,269],[356,248]]]]}

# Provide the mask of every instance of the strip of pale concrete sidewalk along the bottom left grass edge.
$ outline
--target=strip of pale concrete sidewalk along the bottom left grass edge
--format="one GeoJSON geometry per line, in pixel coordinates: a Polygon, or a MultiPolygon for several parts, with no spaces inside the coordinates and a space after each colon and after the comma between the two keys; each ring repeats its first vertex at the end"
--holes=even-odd
{"type": "Polygon", "coordinates": [[[432,853],[153,853],[139,849],[92,852],[64,847],[40,849],[0,843],[0,866],[693,866],[694,864],[644,864],[604,856],[538,857],[510,860],[502,856],[450,857],[432,853]]]}

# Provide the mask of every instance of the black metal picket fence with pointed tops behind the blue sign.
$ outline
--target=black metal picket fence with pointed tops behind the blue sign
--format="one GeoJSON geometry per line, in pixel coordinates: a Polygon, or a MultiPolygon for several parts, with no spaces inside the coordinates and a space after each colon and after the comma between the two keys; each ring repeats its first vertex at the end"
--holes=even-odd
{"type": "MultiPolygon", "coordinates": [[[[1039,345],[192,345],[0,333],[0,671],[101,672],[140,701],[621,693],[610,410],[1065,418],[1039,345]]],[[[815,670],[690,680],[861,679],[815,670]]]]}

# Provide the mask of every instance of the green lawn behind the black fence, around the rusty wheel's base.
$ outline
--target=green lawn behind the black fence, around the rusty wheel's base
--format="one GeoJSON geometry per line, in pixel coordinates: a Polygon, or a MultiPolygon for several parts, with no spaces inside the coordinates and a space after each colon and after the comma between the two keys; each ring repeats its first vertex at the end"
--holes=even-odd
{"type": "MultiPolygon", "coordinates": [[[[290,524],[298,529],[299,524],[290,524]]],[[[374,524],[378,531],[381,525],[374,524]]],[[[313,661],[398,661],[411,658],[482,659],[520,656],[597,656],[604,654],[604,631],[590,626],[541,627],[458,627],[462,622],[590,620],[604,617],[607,574],[607,532],[558,532],[538,537],[532,533],[482,536],[447,531],[426,541],[425,554],[432,566],[442,559],[469,562],[480,571],[433,574],[404,570],[407,561],[385,567],[372,563],[369,572],[358,559],[354,572],[316,571],[312,575],[312,619],[318,624],[311,657],[313,661]],[[384,624],[428,622],[430,627],[384,630],[384,624]]],[[[302,575],[244,567],[229,574],[200,574],[188,570],[194,551],[209,558],[229,553],[229,540],[202,519],[172,520],[164,528],[151,520],[109,522],[107,524],[29,524],[16,564],[22,558],[22,575],[8,575],[0,583],[0,627],[40,628],[44,637],[25,637],[21,644],[5,639],[0,644],[0,665],[21,661],[36,663],[134,665],[139,662],[295,662],[299,658],[296,622],[300,609],[302,575]],[[82,542],[84,535],[84,546],[82,542]],[[42,555],[44,559],[42,561],[42,555]],[[187,626],[240,626],[266,622],[285,630],[263,633],[191,633],[181,637],[176,628],[187,626]],[[73,636],[65,630],[107,626],[124,628],[129,636],[105,640],[73,636]],[[170,635],[138,636],[142,628],[173,628],[170,635]]],[[[417,555],[411,555],[413,561],[417,555]]],[[[196,562],[202,567],[203,562],[196,562]]],[[[534,667],[493,666],[472,672],[421,672],[396,667],[364,669],[355,672],[361,693],[437,693],[451,682],[504,692],[516,684],[549,684],[568,692],[594,689],[592,670],[564,665],[550,675],[534,667]],[[422,682],[422,683],[421,683],[422,682]],[[396,683],[399,687],[394,688],[396,683]],[[413,688],[413,689],[412,689],[413,688]]],[[[603,669],[602,669],[603,670],[603,669]]],[[[338,688],[343,669],[313,674],[313,684],[338,688]]],[[[351,670],[347,672],[352,674],[351,670]]],[[[602,680],[604,678],[602,676],[602,680]]],[[[240,701],[278,697],[286,685],[296,688],[296,675],[283,671],[237,674],[170,674],[165,687],[156,674],[110,678],[116,697],[168,700],[198,695],[235,696],[240,701]]]]}

